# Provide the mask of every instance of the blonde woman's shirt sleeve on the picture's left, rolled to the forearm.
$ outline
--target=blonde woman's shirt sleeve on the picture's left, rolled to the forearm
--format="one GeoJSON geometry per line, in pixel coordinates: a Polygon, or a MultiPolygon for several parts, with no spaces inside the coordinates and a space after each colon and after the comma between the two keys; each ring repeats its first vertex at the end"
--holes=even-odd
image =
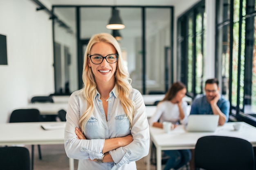
{"type": "Polygon", "coordinates": [[[65,151],[67,157],[73,159],[96,159],[103,154],[105,139],[77,139],[75,128],[79,127],[80,109],[78,92],[74,92],[69,99],[66,114],[66,127],[64,133],[65,151]]]}

